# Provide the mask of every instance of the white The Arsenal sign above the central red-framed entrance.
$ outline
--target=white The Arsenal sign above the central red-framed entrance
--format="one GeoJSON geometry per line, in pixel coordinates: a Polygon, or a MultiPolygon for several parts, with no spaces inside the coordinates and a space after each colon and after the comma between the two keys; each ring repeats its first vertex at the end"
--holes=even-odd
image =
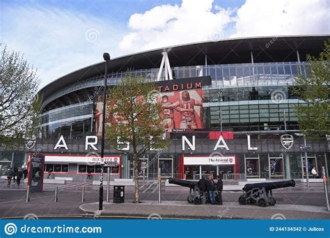
{"type": "Polygon", "coordinates": [[[184,157],[184,165],[234,165],[235,157],[184,157]]]}

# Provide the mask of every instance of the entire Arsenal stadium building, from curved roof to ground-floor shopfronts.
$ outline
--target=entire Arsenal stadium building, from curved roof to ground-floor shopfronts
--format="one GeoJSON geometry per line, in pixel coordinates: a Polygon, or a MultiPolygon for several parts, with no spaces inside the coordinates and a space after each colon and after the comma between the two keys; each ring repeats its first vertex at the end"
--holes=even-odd
{"type": "MultiPolygon", "coordinates": [[[[305,177],[304,139],[297,136],[294,113],[294,106],[304,102],[292,87],[299,70],[306,74],[306,55],[318,56],[328,39],[329,35],[308,35],[219,40],[111,59],[109,87],[116,86],[127,69],[159,82],[171,146],[150,150],[141,158],[144,176],[155,179],[160,168],[162,177],[187,180],[209,173],[223,174],[225,180],[305,177]]],[[[22,166],[28,154],[45,154],[45,172],[52,171],[53,177],[86,180],[90,175],[88,179],[99,180],[102,103],[98,97],[103,85],[104,61],[42,88],[36,145],[19,156],[2,152],[2,162],[8,157],[11,166],[22,166]]],[[[315,167],[321,177],[322,166],[328,173],[327,138],[307,145],[308,174],[315,167]]],[[[133,177],[131,148],[122,149],[104,149],[106,159],[118,161],[111,168],[111,179],[133,177]]]]}

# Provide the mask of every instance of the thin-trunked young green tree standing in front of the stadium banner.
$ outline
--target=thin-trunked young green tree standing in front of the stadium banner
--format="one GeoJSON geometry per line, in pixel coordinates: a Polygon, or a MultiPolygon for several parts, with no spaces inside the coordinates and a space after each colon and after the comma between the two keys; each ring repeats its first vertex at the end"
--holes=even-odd
{"type": "Polygon", "coordinates": [[[168,140],[163,138],[165,124],[159,116],[162,105],[156,100],[158,94],[155,83],[134,77],[130,72],[118,86],[109,89],[107,111],[111,124],[107,124],[106,137],[113,141],[111,147],[117,150],[120,150],[120,143],[129,143],[134,160],[134,203],[140,200],[140,158],[150,148],[162,150],[168,147],[168,140]]]}

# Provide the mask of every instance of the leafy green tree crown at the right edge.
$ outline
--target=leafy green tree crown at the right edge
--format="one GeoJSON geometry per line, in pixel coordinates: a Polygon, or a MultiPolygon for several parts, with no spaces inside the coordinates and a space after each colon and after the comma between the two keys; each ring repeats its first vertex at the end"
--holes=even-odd
{"type": "Polygon", "coordinates": [[[309,138],[322,138],[330,132],[330,40],[324,43],[320,56],[307,55],[306,75],[301,72],[295,79],[294,93],[305,103],[297,104],[295,113],[299,129],[309,138]]]}

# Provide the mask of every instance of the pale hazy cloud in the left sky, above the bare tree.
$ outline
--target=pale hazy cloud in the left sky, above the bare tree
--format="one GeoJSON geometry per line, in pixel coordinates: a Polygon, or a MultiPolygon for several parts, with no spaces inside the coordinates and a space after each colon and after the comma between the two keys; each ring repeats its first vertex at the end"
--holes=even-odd
{"type": "MultiPolygon", "coordinates": [[[[102,61],[104,51],[120,55],[123,28],[100,18],[56,8],[4,6],[3,45],[22,51],[38,68],[41,85],[79,68],[102,61]],[[121,29],[120,29],[121,28],[121,29]]],[[[125,28],[124,28],[125,29],[125,28]]]]}

